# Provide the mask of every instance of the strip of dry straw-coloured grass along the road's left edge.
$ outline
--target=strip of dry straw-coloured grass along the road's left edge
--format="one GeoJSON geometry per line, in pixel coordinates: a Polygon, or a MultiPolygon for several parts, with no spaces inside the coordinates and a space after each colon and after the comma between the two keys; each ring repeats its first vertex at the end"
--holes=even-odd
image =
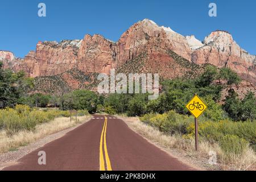
{"type": "Polygon", "coordinates": [[[70,118],[68,117],[59,117],[55,118],[53,121],[37,125],[35,131],[24,130],[11,137],[6,134],[5,130],[2,130],[0,131],[0,154],[10,150],[17,150],[20,146],[26,146],[49,134],[68,129],[78,123],[85,122],[89,118],[91,118],[90,115],[79,116],[77,117],[76,123],[74,118],[70,121],[70,118]]]}

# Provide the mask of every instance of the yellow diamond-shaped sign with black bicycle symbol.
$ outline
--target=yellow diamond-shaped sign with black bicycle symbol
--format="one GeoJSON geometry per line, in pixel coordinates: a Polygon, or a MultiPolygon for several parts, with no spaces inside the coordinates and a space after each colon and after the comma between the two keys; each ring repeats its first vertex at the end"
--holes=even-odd
{"type": "Polygon", "coordinates": [[[197,95],[188,102],[186,107],[195,118],[200,117],[205,109],[207,109],[207,105],[197,95]]]}

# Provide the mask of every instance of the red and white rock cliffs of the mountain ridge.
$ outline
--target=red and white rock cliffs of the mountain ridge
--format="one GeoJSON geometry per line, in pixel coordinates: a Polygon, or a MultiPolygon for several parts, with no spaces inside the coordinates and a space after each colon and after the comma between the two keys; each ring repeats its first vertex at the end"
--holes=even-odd
{"type": "Polygon", "coordinates": [[[193,35],[180,35],[149,19],[133,24],[117,42],[101,35],[85,35],[82,40],[60,43],[39,41],[36,50],[23,59],[0,51],[0,61],[4,68],[24,70],[30,77],[56,76],[73,68],[92,75],[109,73],[112,68],[129,72],[134,67],[138,72],[175,78],[200,72],[204,64],[212,64],[229,67],[256,85],[256,56],[238,46],[228,32],[213,31],[200,42],[193,35]]]}

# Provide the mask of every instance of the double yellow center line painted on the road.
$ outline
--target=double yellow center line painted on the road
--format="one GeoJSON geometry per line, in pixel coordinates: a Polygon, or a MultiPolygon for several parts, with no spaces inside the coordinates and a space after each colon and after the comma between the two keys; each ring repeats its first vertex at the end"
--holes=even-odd
{"type": "Polygon", "coordinates": [[[105,160],[106,160],[106,167],[108,171],[112,171],[111,163],[109,160],[108,149],[106,146],[106,127],[108,124],[108,118],[105,117],[104,126],[101,132],[101,140],[100,140],[100,171],[105,171],[105,160]],[[105,160],[103,155],[103,150],[105,152],[105,160]]]}

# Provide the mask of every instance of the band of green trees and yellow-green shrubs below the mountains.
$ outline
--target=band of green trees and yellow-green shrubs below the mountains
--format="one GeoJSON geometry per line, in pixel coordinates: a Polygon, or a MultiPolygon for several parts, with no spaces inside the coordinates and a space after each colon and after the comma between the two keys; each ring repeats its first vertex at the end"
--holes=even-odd
{"type": "Polygon", "coordinates": [[[197,93],[208,105],[199,119],[200,143],[208,146],[201,147],[204,155],[208,156],[212,148],[219,156],[218,162],[227,164],[229,169],[248,169],[255,167],[256,98],[252,92],[238,98],[232,85],[240,81],[229,68],[207,65],[196,78],[162,81],[156,100],[148,100],[148,94],[99,95],[90,90],[49,95],[27,93],[27,88],[33,87],[33,79],[26,78],[23,72],[1,69],[0,64],[0,131],[8,137],[23,131],[35,133],[38,126],[57,118],[68,121],[70,110],[77,110],[80,115],[118,114],[139,117],[142,128],[151,127],[159,136],[171,137],[183,145],[172,147],[190,151],[195,133],[193,117],[185,105],[197,93]],[[228,96],[221,100],[224,88],[229,88],[228,96]]]}

